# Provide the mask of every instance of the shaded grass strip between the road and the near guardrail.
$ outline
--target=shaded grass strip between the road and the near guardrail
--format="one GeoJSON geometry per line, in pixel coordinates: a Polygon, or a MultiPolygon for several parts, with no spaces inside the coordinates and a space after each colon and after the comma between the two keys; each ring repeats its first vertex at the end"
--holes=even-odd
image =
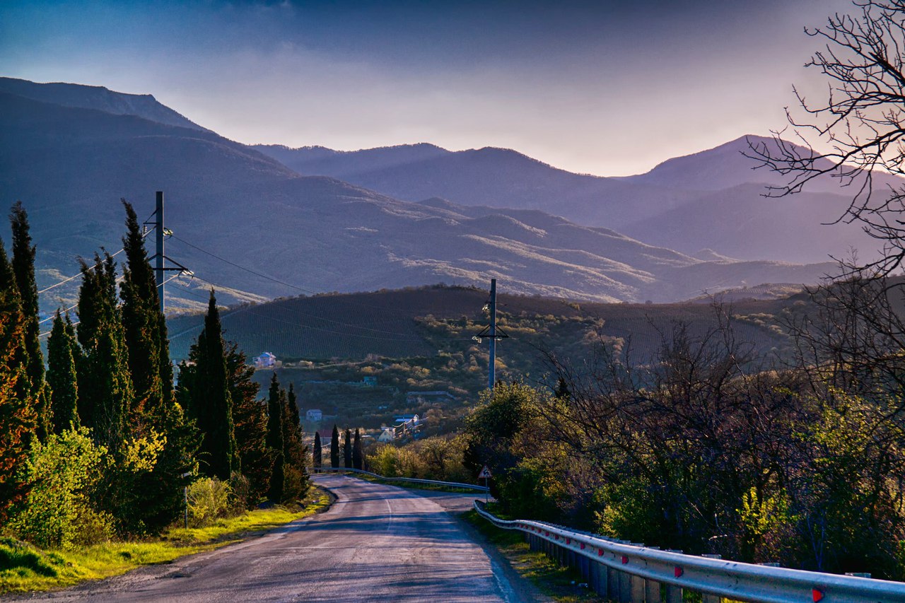
{"type": "Polygon", "coordinates": [[[520,531],[498,528],[475,511],[463,513],[462,519],[471,523],[487,541],[500,550],[519,576],[529,579],[549,598],[561,603],[609,600],[600,598],[593,590],[577,586],[584,580],[576,570],[560,567],[544,553],[530,550],[520,531]]]}

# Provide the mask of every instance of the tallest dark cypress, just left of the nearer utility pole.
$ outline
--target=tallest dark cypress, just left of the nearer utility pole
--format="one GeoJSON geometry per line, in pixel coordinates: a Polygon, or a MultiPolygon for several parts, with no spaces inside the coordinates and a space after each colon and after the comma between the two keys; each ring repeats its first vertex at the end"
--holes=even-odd
{"type": "Polygon", "coordinates": [[[161,338],[157,282],[148,263],[138,217],[125,199],[122,204],[126,209],[127,232],[122,239],[126,265],[123,266],[122,282],[119,284],[119,297],[122,300],[123,331],[129,348],[129,372],[135,388],[135,398],[129,409],[129,426],[136,435],[141,435],[146,431],[144,424],[148,422],[148,416],[160,412],[165,403],[160,364],[161,342],[166,340],[166,334],[161,338]]]}

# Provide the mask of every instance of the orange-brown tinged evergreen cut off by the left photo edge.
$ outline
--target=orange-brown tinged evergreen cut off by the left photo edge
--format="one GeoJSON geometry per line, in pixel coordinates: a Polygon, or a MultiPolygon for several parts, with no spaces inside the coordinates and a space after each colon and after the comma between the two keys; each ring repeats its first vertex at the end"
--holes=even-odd
{"type": "Polygon", "coordinates": [[[28,493],[20,469],[37,424],[25,374],[25,317],[13,268],[0,241],[0,525],[14,503],[28,493]]]}

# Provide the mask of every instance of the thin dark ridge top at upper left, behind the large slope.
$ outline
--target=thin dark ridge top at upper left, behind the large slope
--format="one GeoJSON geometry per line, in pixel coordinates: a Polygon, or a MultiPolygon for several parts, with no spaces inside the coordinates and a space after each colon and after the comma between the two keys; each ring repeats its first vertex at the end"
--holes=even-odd
{"type": "Polygon", "coordinates": [[[7,92],[64,107],[102,110],[114,115],[136,115],[169,126],[205,130],[194,121],[162,105],[150,94],[127,94],[110,91],[102,86],[83,86],[71,83],[37,83],[0,77],[0,92],[7,92]]]}

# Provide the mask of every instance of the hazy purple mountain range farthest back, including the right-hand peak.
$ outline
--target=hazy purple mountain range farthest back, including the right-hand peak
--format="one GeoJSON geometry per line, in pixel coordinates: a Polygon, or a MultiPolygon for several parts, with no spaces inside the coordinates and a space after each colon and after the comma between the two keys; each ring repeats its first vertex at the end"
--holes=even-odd
{"type": "MultiPolygon", "coordinates": [[[[538,209],[685,254],[702,248],[716,254],[700,259],[819,263],[853,248],[862,257],[875,252],[876,241],[859,225],[825,225],[843,215],[851,188],[824,176],[804,194],[766,198],[768,186],[781,187],[786,180],[767,168],[756,169],[757,161],[745,155],[751,153],[749,144],[776,148],[773,139],[741,137],[630,177],[572,174],[503,148],[257,148],[302,174],[338,177],[397,198],[538,209]]],[[[873,184],[900,187],[905,179],[878,174],[873,184]]]]}

